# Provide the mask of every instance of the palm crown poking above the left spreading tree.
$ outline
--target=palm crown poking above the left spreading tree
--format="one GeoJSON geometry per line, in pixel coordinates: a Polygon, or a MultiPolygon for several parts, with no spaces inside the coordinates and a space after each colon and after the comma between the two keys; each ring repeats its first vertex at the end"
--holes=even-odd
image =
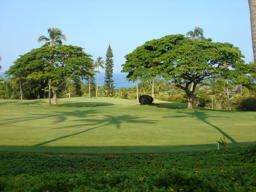
{"type": "Polygon", "coordinates": [[[49,37],[45,37],[44,35],[40,36],[38,38],[38,42],[41,42],[41,41],[48,41],[46,42],[42,47],[44,46],[50,46],[50,45],[54,45],[54,44],[61,44],[62,45],[62,39],[64,41],[66,41],[66,36],[62,34],[62,31],[60,29],[57,29],[57,28],[48,28],[48,34],[49,34],[49,37]]]}

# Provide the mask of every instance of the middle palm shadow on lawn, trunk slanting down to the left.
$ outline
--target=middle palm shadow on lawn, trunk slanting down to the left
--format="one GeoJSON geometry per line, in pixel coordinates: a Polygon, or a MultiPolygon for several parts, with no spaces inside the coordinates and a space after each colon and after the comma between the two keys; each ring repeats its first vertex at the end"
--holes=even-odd
{"type": "Polygon", "coordinates": [[[140,118],[142,118],[142,117],[131,116],[131,115],[120,115],[120,116],[113,117],[113,116],[105,115],[105,116],[103,116],[103,119],[101,119],[101,120],[99,120],[99,119],[75,120],[75,121],[86,121],[86,124],[71,125],[71,126],[59,127],[59,128],[54,128],[54,129],[72,128],[72,127],[77,127],[77,126],[81,127],[81,126],[86,126],[86,125],[97,125],[97,124],[99,124],[99,125],[95,126],[95,127],[92,127],[92,128],[89,128],[89,129],[85,129],[83,131],[72,133],[70,135],[61,136],[61,137],[56,138],[56,139],[52,139],[52,140],[49,140],[49,141],[46,141],[46,142],[43,142],[43,143],[39,143],[39,144],[36,144],[34,146],[42,146],[44,144],[48,144],[48,143],[51,143],[51,142],[54,142],[54,141],[57,141],[57,140],[60,140],[60,139],[68,138],[70,136],[79,135],[81,133],[85,133],[85,132],[91,131],[93,129],[103,127],[103,126],[107,126],[107,125],[108,126],[113,125],[117,129],[120,129],[122,123],[144,123],[144,124],[156,123],[156,120],[142,120],[140,118]],[[96,123],[88,124],[87,122],[88,123],[96,122],[96,123]]]}

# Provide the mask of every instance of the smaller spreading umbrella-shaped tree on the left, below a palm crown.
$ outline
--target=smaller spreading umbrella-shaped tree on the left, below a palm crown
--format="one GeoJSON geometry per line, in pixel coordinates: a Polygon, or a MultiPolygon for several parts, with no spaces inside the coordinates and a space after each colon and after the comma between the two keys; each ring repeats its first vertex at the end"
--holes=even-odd
{"type": "Polygon", "coordinates": [[[67,79],[84,79],[91,75],[93,66],[91,55],[83,48],[72,45],[53,45],[33,49],[20,56],[14,65],[5,72],[8,75],[22,76],[29,80],[49,81],[53,103],[58,104],[57,91],[67,79]]]}

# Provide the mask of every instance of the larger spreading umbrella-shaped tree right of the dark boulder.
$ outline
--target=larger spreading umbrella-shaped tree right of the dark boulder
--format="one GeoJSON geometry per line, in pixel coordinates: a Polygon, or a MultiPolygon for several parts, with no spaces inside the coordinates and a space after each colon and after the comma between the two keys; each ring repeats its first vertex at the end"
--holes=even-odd
{"type": "Polygon", "coordinates": [[[131,80],[138,74],[142,79],[159,75],[173,80],[176,87],[186,92],[188,108],[193,108],[196,85],[206,79],[241,76],[248,69],[243,57],[241,51],[229,43],[191,40],[181,34],[167,35],[148,41],[127,54],[121,72],[128,72],[127,78],[131,80]]]}

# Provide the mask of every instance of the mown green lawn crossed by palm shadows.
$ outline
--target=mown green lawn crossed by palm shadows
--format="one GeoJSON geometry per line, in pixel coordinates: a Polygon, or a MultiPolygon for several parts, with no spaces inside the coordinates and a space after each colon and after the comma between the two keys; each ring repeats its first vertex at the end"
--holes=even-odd
{"type": "Polygon", "coordinates": [[[256,112],[187,109],[184,103],[103,97],[0,100],[0,151],[129,154],[217,149],[256,143],[256,112]]]}

